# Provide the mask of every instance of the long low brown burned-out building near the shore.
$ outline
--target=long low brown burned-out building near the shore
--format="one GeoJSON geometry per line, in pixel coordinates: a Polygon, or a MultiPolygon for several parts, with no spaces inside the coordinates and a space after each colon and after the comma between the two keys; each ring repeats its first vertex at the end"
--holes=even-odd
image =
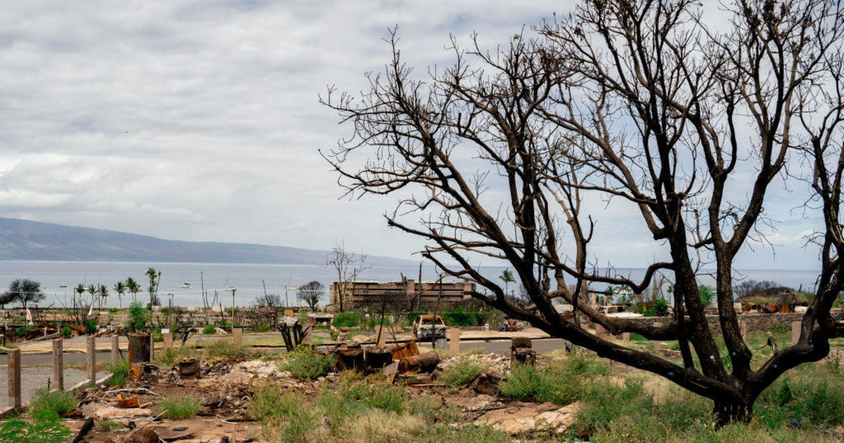
{"type": "MultiPolygon", "coordinates": [[[[331,304],[338,305],[338,282],[329,287],[331,304]]],[[[475,284],[468,282],[416,282],[408,280],[407,287],[403,282],[372,282],[357,281],[349,282],[346,288],[344,309],[364,308],[367,306],[379,306],[383,302],[387,305],[407,304],[413,300],[416,305],[416,298],[421,297],[419,305],[433,307],[436,305],[437,297],[440,297],[440,306],[447,307],[461,300],[472,298],[471,292],[475,290],[475,284]]]]}

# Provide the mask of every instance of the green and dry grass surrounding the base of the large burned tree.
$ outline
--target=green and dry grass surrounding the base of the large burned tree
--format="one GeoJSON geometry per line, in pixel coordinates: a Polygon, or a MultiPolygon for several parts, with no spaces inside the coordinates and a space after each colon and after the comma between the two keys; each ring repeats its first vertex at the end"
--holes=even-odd
{"type": "Polygon", "coordinates": [[[559,364],[519,366],[499,385],[509,397],[579,401],[571,440],[609,443],[690,441],[833,441],[819,429],[844,424],[844,384],[837,368],[806,364],[763,392],[749,424],[715,428],[712,402],[645,372],[613,375],[592,354],[559,364]],[[799,420],[801,426],[792,425],[799,420]]]}

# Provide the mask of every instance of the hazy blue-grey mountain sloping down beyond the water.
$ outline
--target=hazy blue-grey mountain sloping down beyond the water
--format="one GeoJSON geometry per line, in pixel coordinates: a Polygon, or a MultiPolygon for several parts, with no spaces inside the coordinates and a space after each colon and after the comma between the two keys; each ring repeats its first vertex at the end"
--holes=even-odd
{"type": "MultiPolygon", "coordinates": [[[[321,264],[328,251],[287,246],[163,240],[113,230],[0,218],[0,260],[321,264]]],[[[415,262],[368,257],[373,266],[415,262]]]]}

